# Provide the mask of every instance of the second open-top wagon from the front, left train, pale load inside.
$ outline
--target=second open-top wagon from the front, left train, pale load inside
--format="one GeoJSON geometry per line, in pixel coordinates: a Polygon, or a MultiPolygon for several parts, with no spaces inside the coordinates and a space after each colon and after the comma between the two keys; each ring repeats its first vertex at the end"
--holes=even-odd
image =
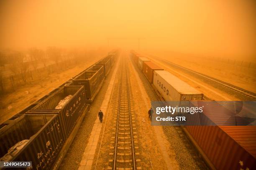
{"type": "Polygon", "coordinates": [[[67,138],[85,107],[87,103],[84,86],[64,86],[26,114],[58,114],[61,119],[61,128],[67,138]],[[69,100],[56,108],[69,95],[72,95],[69,100]]]}

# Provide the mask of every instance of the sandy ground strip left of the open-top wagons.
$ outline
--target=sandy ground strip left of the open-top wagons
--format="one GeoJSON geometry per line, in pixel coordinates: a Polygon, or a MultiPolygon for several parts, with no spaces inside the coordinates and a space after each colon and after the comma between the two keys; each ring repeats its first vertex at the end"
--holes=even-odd
{"type": "Polygon", "coordinates": [[[77,75],[82,70],[95,63],[104,55],[92,58],[86,63],[79,63],[77,66],[68,68],[62,72],[54,72],[46,77],[43,77],[39,82],[31,82],[15,90],[14,92],[1,97],[1,105],[5,106],[0,109],[0,123],[15,115],[18,111],[27,107],[31,103],[48,94],[62,83],[77,75]]]}

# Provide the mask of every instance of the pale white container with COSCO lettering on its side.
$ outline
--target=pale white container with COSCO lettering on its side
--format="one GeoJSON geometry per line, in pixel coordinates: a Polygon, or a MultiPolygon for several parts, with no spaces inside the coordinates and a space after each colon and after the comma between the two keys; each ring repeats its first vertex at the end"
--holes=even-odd
{"type": "Polygon", "coordinates": [[[153,85],[166,101],[202,100],[203,94],[165,70],[155,70],[153,85]]]}

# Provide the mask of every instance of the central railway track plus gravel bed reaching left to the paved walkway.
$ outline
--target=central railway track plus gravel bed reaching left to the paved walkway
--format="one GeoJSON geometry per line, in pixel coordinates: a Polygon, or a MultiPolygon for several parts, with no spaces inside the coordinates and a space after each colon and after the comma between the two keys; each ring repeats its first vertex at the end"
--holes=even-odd
{"type": "Polygon", "coordinates": [[[96,169],[141,169],[140,150],[135,120],[134,102],[128,77],[127,58],[120,59],[115,86],[110,97],[96,169]]]}

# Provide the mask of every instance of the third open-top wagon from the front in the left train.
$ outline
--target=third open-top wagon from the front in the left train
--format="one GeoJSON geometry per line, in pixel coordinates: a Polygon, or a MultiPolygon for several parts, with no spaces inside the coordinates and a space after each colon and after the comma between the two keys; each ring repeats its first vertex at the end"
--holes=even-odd
{"type": "Polygon", "coordinates": [[[70,85],[84,85],[87,99],[95,97],[98,88],[104,81],[104,68],[101,65],[94,65],[88,68],[81,75],[74,78],[70,85]]]}

